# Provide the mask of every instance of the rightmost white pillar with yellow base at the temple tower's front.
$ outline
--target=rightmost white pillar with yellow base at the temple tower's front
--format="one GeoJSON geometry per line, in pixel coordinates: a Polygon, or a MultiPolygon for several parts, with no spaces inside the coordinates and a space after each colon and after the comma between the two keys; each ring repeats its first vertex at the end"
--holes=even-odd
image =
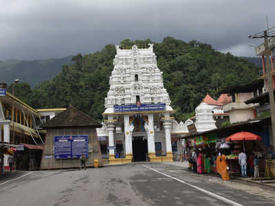
{"type": "Polygon", "coordinates": [[[169,114],[164,117],[164,133],[166,141],[166,157],[164,161],[173,161],[172,144],[171,144],[171,119],[169,114]]]}

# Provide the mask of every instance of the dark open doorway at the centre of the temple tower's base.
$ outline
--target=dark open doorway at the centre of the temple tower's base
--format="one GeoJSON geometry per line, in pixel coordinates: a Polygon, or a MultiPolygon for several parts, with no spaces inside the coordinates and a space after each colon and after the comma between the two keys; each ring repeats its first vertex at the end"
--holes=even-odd
{"type": "Polygon", "coordinates": [[[144,137],[133,138],[133,161],[146,161],[148,152],[147,139],[144,137]]]}

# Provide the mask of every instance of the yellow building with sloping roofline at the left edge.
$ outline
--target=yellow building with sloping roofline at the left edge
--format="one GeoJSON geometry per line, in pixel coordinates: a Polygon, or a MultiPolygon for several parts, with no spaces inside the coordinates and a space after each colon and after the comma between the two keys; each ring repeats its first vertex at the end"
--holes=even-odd
{"type": "MultiPolygon", "coordinates": [[[[0,93],[0,142],[5,144],[24,144],[26,148],[43,146],[43,132],[36,128],[35,119],[39,112],[25,104],[14,95],[1,89],[0,93]]],[[[43,147],[38,147],[41,150],[43,147]]],[[[1,161],[8,169],[8,155],[1,161]]]]}

